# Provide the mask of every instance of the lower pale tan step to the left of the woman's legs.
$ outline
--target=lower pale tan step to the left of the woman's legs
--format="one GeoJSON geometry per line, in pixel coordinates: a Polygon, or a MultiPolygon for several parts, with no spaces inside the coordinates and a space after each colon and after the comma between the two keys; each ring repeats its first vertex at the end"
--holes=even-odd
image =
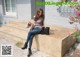
{"type": "Polygon", "coordinates": [[[2,33],[3,36],[5,34],[8,36],[12,36],[20,39],[26,39],[27,32],[28,32],[27,30],[21,30],[21,29],[9,27],[9,26],[3,26],[0,28],[0,33],[2,33]]]}

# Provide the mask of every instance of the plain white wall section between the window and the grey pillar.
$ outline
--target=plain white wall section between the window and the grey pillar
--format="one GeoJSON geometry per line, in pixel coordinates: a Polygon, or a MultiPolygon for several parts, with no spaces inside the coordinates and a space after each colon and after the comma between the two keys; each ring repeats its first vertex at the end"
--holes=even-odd
{"type": "Polygon", "coordinates": [[[21,20],[31,19],[31,0],[16,0],[17,18],[21,20]]]}

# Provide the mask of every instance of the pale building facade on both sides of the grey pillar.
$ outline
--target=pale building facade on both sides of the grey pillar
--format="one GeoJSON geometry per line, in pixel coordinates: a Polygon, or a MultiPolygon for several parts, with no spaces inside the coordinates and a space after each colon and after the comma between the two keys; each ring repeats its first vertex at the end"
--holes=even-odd
{"type": "MultiPolygon", "coordinates": [[[[28,21],[35,15],[36,9],[42,8],[45,13],[45,24],[61,25],[65,27],[72,27],[69,18],[65,17],[67,13],[74,13],[73,9],[65,7],[58,7],[53,5],[37,6],[36,1],[40,2],[60,2],[64,0],[0,0],[0,24],[5,24],[8,21],[20,19],[28,21]],[[59,10],[62,12],[59,13],[59,10]],[[65,9],[64,9],[65,8],[65,9]],[[66,24],[66,25],[64,25],[66,24]]],[[[71,1],[71,0],[65,0],[71,1]]],[[[69,14],[68,14],[69,15],[69,14]]]]}

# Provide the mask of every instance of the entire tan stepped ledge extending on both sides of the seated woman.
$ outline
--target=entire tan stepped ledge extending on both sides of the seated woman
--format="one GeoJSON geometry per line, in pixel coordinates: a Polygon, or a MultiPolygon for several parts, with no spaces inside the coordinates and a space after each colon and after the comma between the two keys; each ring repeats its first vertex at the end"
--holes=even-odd
{"type": "MultiPolygon", "coordinates": [[[[26,41],[27,23],[11,22],[0,28],[0,35],[15,41],[26,41]]],[[[74,44],[76,39],[72,34],[76,30],[61,26],[50,26],[50,35],[36,35],[33,48],[43,51],[53,57],[63,57],[66,51],[74,44]]]]}

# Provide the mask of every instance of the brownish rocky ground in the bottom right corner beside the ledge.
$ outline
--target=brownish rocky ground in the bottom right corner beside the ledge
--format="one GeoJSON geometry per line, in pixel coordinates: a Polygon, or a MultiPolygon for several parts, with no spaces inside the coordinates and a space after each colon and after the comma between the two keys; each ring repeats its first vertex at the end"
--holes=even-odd
{"type": "Polygon", "coordinates": [[[70,48],[64,57],[80,57],[80,43],[75,43],[74,48],[70,48]]]}

